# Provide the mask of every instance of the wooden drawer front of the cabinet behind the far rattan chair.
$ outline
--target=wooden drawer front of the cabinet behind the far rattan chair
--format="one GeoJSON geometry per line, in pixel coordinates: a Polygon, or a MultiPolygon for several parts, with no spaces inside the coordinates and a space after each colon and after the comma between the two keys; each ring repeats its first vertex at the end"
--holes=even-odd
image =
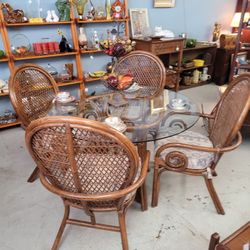
{"type": "Polygon", "coordinates": [[[167,54],[167,53],[174,53],[179,52],[183,48],[182,41],[173,41],[173,42],[161,42],[161,43],[154,43],[152,44],[152,53],[155,55],[167,54]]]}

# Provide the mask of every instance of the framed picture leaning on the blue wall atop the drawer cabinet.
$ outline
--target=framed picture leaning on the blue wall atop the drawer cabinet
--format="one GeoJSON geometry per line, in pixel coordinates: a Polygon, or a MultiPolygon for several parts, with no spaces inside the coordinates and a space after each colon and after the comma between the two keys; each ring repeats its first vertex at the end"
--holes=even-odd
{"type": "Polygon", "coordinates": [[[141,38],[149,29],[148,9],[129,9],[132,38],[141,38]]]}

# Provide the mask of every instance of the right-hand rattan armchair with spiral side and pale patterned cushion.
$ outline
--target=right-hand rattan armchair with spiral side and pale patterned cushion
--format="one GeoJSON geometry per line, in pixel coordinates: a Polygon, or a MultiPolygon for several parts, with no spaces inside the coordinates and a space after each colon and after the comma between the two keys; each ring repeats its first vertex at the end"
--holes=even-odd
{"type": "Polygon", "coordinates": [[[165,171],[203,176],[219,214],[224,214],[212,179],[224,152],[236,149],[241,141],[241,128],[250,108],[250,74],[245,73],[230,83],[211,114],[199,114],[208,120],[208,136],[186,131],[157,144],[154,163],[152,206],[158,204],[160,176],[165,171]]]}

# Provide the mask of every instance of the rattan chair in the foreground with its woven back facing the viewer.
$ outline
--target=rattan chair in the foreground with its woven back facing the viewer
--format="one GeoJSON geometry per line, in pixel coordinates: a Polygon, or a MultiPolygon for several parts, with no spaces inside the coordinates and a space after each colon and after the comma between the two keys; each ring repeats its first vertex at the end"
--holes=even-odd
{"type": "Polygon", "coordinates": [[[42,184],[63,199],[65,213],[52,249],[58,249],[66,224],[121,233],[128,249],[125,214],[143,184],[143,167],[129,139],[97,121],[45,117],[26,130],[26,144],[40,169],[42,184]],[[70,207],[82,209],[90,222],[69,218],[70,207]],[[116,211],[119,226],[96,223],[94,212],[116,211]]]}

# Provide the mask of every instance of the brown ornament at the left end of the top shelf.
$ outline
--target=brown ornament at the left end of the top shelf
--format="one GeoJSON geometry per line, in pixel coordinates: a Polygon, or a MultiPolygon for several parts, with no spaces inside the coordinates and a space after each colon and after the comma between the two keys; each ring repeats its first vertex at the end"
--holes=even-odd
{"type": "Polygon", "coordinates": [[[1,9],[3,10],[4,20],[7,23],[28,22],[28,18],[24,16],[23,10],[14,10],[8,3],[2,3],[1,9]]]}

